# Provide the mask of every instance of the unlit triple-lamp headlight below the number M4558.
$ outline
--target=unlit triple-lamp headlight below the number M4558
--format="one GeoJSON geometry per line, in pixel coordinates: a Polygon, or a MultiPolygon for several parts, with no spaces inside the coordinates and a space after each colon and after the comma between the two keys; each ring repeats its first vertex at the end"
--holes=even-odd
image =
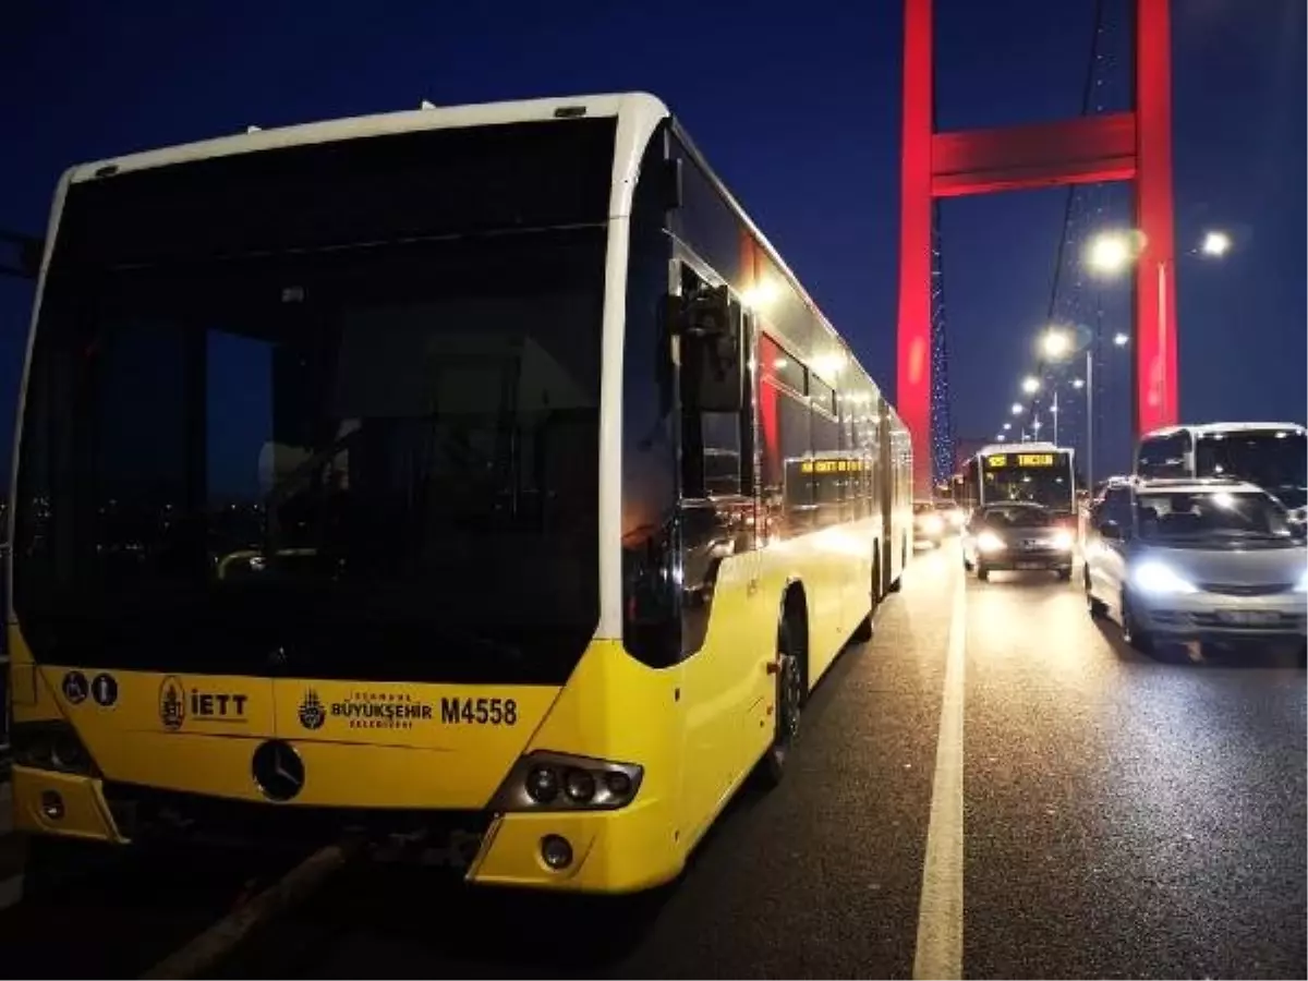
{"type": "Polygon", "coordinates": [[[633,763],[539,751],[514,764],[492,811],[613,811],[636,799],[645,776],[633,763]]]}

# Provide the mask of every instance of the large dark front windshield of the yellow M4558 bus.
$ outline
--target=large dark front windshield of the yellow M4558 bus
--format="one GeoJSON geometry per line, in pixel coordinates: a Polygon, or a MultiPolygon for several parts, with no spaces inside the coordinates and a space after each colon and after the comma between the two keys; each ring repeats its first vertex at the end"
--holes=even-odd
{"type": "MultiPolygon", "coordinates": [[[[535,149],[556,194],[596,181],[598,207],[572,208],[569,228],[479,235],[432,213],[441,234],[425,238],[421,204],[400,199],[391,217],[409,234],[385,238],[377,209],[352,233],[319,220],[335,198],[279,204],[254,160],[191,187],[187,201],[262,208],[211,211],[212,225],[170,220],[183,174],[158,196],[149,171],[124,179],[131,228],[105,228],[126,218],[114,179],[69,195],[21,430],[14,608],[38,661],[568,676],[599,608],[610,150],[519,149],[514,167],[531,171],[535,149]]],[[[335,173],[348,199],[348,150],[314,152],[322,166],[303,173],[335,173]]],[[[439,177],[430,192],[456,209],[480,179],[439,177]]],[[[542,201],[515,213],[527,204],[542,201]]]]}

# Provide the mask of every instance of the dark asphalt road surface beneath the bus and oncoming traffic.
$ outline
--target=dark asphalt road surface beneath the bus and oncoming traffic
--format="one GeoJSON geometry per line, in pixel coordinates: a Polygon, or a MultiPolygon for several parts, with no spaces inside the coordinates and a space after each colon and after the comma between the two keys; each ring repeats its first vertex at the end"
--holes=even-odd
{"type": "MultiPolygon", "coordinates": [[[[927,905],[957,920],[967,976],[1304,977],[1308,671],[1288,654],[1144,658],[1075,586],[967,579],[954,828],[937,757],[960,577],[954,545],[914,560],[816,692],[785,785],[736,800],[670,888],[560,901],[352,867],[209,977],[906,977],[929,827],[933,854],[961,831],[956,869],[927,874],[960,875],[961,908],[927,905]]],[[[0,957],[135,977],[281,869],[101,874],[0,913],[0,957]]]]}

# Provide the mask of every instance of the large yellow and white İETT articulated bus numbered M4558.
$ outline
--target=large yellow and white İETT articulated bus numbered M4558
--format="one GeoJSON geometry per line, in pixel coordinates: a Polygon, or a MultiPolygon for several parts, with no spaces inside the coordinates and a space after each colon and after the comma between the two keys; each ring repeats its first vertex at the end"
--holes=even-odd
{"type": "Polygon", "coordinates": [[[912,553],[909,434],[649,95],[59,184],[17,429],[29,884],[75,845],[675,878],[912,553]]]}

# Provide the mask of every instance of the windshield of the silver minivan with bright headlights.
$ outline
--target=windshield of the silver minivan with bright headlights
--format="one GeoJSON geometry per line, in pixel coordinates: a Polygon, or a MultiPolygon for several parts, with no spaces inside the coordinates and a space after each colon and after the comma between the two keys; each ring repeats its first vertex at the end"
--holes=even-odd
{"type": "Polygon", "coordinates": [[[1135,513],[1146,542],[1292,540],[1284,509],[1254,490],[1141,493],[1135,513]]]}

